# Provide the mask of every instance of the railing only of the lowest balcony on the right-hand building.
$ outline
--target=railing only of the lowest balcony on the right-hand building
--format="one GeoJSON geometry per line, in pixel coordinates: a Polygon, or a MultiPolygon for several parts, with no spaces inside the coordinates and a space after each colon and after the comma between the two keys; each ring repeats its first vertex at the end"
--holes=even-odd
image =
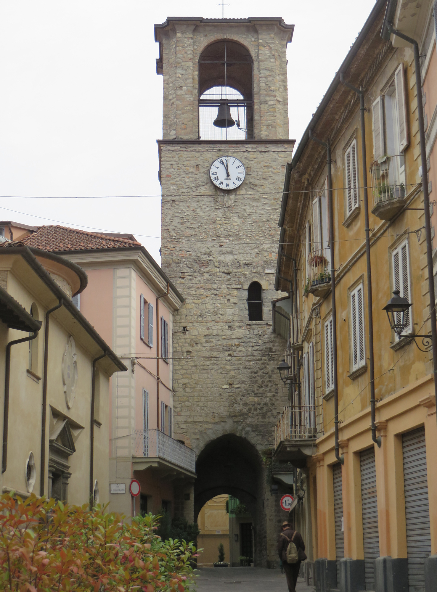
{"type": "Polygon", "coordinates": [[[284,407],[275,427],[275,448],[281,440],[316,439],[316,406],[295,405],[284,407]]]}

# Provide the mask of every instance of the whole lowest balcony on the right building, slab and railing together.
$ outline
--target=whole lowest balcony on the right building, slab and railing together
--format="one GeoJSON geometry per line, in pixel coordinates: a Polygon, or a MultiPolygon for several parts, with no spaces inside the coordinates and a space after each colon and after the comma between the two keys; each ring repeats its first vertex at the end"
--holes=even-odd
{"type": "Polygon", "coordinates": [[[275,426],[275,459],[289,461],[297,467],[306,466],[307,456],[316,451],[316,439],[322,436],[316,415],[315,405],[284,407],[275,426]]]}

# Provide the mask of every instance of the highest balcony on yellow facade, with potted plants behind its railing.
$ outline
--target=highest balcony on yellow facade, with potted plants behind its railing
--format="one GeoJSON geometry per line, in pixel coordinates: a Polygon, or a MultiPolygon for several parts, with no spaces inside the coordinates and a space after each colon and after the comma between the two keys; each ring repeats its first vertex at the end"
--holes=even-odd
{"type": "Polygon", "coordinates": [[[400,156],[383,156],[370,167],[372,178],[372,214],[391,220],[405,204],[405,185],[401,181],[400,156]]]}

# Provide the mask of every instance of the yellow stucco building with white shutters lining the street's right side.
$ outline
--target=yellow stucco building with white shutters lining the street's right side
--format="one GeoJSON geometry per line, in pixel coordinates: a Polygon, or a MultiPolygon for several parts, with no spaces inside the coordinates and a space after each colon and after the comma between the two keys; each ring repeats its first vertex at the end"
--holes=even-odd
{"type": "MultiPolygon", "coordinates": [[[[398,4],[375,3],[285,175],[275,288],[290,298],[275,306],[277,330],[290,318],[283,365],[290,406],[278,419],[274,462],[278,474],[285,462],[295,467],[294,519],[317,592],[435,590],[437,429],[430,339],[423,339],[430,334],[423,175],[412,45],[387,33],[385,11],[395,18],[407,3],[398,4]],[[404,321],[399,334],[383,310],[393,291],[412,304],[404,318],[395,316],[404,321]]],[[[432,6],[422,4],[415,35],[423,80],[436,49],[432,6]]],[[[396,26],[407,24],[400,18],[396,26]]],[[[431,111],[433,122],[435,104],[431,111]]],[[[434,133],[431,125],[426,133],[434,133]]]]}

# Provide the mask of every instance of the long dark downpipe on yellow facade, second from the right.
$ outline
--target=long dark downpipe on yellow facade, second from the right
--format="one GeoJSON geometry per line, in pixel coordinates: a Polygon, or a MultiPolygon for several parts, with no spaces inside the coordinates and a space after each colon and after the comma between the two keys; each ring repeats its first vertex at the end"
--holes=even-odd
{"type": "Polygon", "coordinates": [[[372,272],[370,264],[370,230],[369,230],[369,202],[367,192],[367,156],[366,156],[366,133],[364,126],[364,91],[356,88],[349,82],[345,82],[343,72],[340,72],[340,82],[355,91],[359,95],[359,119],[361,123],[361,153],[362,153],[362,181],[364,198],[364,225],[366,238],[366,262],[367,262],[367,316],[369,323],[369,371],[370,371],[370,415],[372,441],[381,448],[381,436],[376,435],[375,427],[375,365],[373,353],[373,300],[372,300],[372,272]]]}

